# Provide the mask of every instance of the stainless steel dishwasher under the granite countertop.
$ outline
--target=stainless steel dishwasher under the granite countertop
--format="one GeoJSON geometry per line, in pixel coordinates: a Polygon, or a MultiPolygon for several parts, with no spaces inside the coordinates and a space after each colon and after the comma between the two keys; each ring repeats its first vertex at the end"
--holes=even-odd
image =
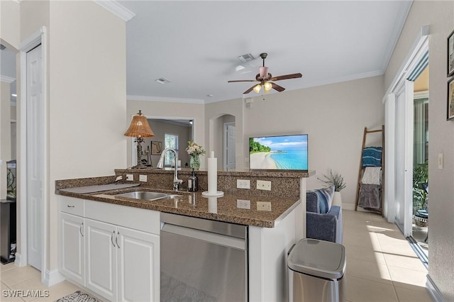
{"type": "Polygon", "coordinates": [[[161,213],[161,301],[248,301],[248,227],[161,213]]]}

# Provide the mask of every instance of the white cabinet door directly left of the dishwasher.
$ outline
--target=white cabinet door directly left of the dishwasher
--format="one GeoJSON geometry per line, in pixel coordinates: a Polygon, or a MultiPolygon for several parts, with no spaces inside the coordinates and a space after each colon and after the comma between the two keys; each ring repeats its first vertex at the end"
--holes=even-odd
{"type": "Polygon", "coordinates": [[[160,238],[117,228],[118,301],[160,300],[160,238]]]}

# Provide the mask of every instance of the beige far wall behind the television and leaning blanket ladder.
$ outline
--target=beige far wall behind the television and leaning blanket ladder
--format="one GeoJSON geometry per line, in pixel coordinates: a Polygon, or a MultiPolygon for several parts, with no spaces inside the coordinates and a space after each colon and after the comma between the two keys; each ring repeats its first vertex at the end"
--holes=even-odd
{"type": "Polygon", "coordinates": [[[351,207],[355,204],[364,127],[379,129],[384,123],[382,90],[383,77],[370,77],[270,94],[265,101],[255,96],[252,108],[245,108],[241,99],[207,104],[206,117],[243,105],[243,118],[240,109],[236,118],[237,140],[241,140],[240,122],[244,123],[237,163],[248,157],[248,138],[252,136],[308,133],[309,169],[317,172],[316,177],[308,179],[308,188],[321,187],[317,177],[333,169],[347,183],[342,197],[351,207]]]}

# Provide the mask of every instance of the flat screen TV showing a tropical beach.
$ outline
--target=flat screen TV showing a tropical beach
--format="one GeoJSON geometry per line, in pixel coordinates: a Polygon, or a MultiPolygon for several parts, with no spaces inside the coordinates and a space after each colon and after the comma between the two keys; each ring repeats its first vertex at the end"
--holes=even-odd
{"type": "Polygon", "coordinates": [[[249,168],[308,170],[307,134],[249,138],[249,168]]]}

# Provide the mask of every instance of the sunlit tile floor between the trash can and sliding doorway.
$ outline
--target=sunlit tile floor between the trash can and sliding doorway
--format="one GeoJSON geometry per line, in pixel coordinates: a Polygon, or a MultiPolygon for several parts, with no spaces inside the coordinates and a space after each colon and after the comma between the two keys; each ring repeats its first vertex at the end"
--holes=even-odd
{"type": "Polygon", "coordinates": [[[397,225],[363,211],[343,211],[343,225],[348,301],[432,301],[427,269],[397,225]]]}

